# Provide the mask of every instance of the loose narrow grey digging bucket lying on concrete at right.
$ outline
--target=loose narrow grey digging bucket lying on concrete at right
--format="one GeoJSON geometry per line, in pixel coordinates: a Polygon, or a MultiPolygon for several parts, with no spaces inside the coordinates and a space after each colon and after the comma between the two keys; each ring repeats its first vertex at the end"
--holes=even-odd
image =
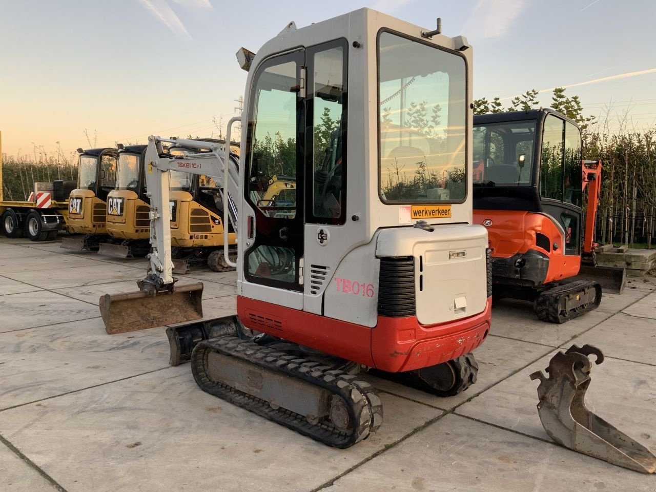
{"type": "Polygon", "coordinates": [[[546,368],[531,374],[539,379],[537,405],[546,433],[557,443],[636,472],[656,471],[656,456],[638,441],[601,419],[585,406],[585,392],[590,386],[592,363],[604,361],[604,354],[592,345],[579,348],[572,345],[567,352],[558,352],[546,368]]]}

